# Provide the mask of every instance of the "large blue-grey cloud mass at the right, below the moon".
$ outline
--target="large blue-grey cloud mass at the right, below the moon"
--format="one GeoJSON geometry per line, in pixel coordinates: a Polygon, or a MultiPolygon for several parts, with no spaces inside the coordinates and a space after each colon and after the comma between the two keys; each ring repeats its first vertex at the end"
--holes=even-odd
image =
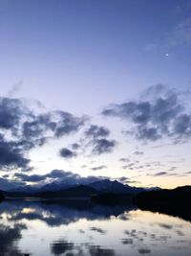
{"type": "Polygon", "coordinates": [[[126,133],[135,134],[139,140],[156,141],[167,136],[179,143],[191,138],[191,112],[185,110],[177,91],[157,84],[145,95],[139,101],[111,105],[102,114],[129,121],[126,133]]]}

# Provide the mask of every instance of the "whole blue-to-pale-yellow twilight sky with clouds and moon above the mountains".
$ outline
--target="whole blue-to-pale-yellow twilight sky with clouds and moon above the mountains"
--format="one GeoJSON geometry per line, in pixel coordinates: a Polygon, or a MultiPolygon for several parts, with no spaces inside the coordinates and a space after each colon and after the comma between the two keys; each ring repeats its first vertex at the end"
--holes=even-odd
{"type": "Polygon", "coordinates": [[[191,184],[191,2],[0,0],[0,187],[191,184]]]}

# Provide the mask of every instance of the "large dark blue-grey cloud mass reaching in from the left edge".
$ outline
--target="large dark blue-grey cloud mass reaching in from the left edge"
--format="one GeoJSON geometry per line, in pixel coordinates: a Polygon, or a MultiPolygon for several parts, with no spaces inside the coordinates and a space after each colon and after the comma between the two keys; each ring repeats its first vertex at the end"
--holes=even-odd
{"type": "Polygon", "coordinates": [[[86,116],[76,117],[61,110],[37,113],[29,105],[21,99],[0,97],[1,170],[32,170],[29,151],[51,138],[77,132],[87,120],[86,116]]]}

